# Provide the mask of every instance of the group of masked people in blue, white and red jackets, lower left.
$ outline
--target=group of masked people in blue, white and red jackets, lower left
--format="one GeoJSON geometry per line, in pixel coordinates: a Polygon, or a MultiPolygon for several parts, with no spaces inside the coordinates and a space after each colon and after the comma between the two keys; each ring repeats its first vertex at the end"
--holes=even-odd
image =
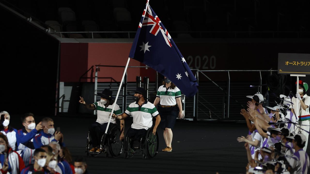
{"type": "Polygon", "coordinates": [[[72,161],[64,136],[55,132],[54,121],[43,118],[38,124],[32,113],[25,114],[23,127],[10,126],[10,114],[0,113],[0,172],[2,174],[87,174],[84,157],[72,161]]]}

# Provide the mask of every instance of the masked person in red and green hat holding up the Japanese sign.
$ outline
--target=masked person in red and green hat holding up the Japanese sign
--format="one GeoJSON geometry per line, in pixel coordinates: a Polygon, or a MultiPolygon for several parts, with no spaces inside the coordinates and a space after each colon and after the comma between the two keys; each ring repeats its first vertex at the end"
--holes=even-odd
{"type": "MultiPolygon", "coordinates": [[[[297,85],[297,82],[295,83],[297,85]]],[[[299,80],[299,89],[298,93],[296,93],[296,98],[292,98],[292,105],[290,107],[296,108],[296,105],[298,105],[297,108],[299,108],[299,113],[295,113],[295,115],[298,116],[297,121],[299,120],[301,122],[300,128],[306,130],[309,132],[310,130],[310,113],[309,113],[309,106],[310,106],[310,97],[306,94],[306,91],[308,90],[308,84],[303,83],[303,81],[299,80]]],[[[306,144],[303,147],[303,150],[307,150],[308,145],[308,137],[309,133],[300,129],[301,133],[305,135],[307,138],[306,144]]],[[[295,127],[295,132],[299,132],[299,128],[295,127]]]]}

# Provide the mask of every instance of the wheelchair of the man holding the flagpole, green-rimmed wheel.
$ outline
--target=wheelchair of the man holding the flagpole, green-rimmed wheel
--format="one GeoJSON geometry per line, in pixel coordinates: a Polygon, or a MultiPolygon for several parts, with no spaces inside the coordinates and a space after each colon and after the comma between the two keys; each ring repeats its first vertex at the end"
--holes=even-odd
{"type": "Polygon", "coordinates": [[[124,157],[132,158],[134,154],[142,153],[142,159],[152,159],[158,152],[158,134],[153,135],[153,127],[149,128],[146,135],[139,140],[129,138],[126,134],[124,157]],[[134,147],[134,145],[138,145],[134,147]]]}

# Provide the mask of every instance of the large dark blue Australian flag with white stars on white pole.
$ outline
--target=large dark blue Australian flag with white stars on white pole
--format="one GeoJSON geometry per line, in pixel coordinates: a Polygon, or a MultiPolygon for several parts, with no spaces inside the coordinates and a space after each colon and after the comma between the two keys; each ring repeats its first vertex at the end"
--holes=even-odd
{"type": "Polygon", "coordinates": [[[195,76],[148,1],[129,57],[169,78],[185,96],[193,97],[197,93],[195,76]]]}

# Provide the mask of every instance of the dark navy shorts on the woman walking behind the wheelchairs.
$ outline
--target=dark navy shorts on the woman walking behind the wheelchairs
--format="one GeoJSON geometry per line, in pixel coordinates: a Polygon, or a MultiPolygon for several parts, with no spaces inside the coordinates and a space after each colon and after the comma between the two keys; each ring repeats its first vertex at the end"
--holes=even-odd
{"type": "Polygon", "coordinates": [[[158,112],[161,118],[160,127],[165,130],[165,128],[172,129],[175,125],[175,120],[177,117],[177,107],[161,107],[158,106],[158,112]]]}

